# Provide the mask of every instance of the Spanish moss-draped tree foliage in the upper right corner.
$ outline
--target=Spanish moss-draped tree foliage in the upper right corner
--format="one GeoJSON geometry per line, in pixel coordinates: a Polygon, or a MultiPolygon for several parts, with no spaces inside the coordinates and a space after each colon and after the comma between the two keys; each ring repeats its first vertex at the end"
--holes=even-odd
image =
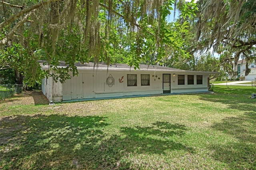
{"type": "MultiPolygon", "coordinates": [[[[240,58],[247,63],[255,59],[256,1],[255,0],[199,0],[196,15],[197,50],[210,49],[222,54],[222,63],[240,58]]],[[[231,70],[226,70],[232,72],[231,70]]],[[[250,69],[246,68],[246,75],[250,69]]],[[[233,72],[233,77],[237,72],[233,72]]]]}

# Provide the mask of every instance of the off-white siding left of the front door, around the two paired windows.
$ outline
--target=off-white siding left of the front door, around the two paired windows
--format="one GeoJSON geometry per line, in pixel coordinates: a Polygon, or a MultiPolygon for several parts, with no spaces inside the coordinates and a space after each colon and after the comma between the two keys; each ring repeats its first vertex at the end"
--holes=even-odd
{"type": "MultiPolygon", "coordinates": [[[[61,86],[61,85],[60,85],[61,86]]],[[[58,88],[58,87],[55,87],[58,88]]],[[[60,92],[60,90],[59,90],[60,92]]],[[[79,71],[78,76],[67,79],[62,85],[62,100],[87,99],[101,97],[120,97],[126,95],[161,94],[162,73],[154,71],[79,71]],[[127,86],[127,74],[137,75],[137,86],[127,86]],[[141,74],[150,75],[150,85],[141,85],[141,74]],[[152,77],[154,75],[154,77],[152,77]],[[157,77],[156,77],[157,75],[157,77]],[[108,85],[107,79],[112,76],[114,84],[108,85]],[[122,79],[123,76],[123,79],[122,79]],[[158,77],[160,79],[158,79],[158,77]],[[122,79],[122,82],[119,82],[122,79]]]]}

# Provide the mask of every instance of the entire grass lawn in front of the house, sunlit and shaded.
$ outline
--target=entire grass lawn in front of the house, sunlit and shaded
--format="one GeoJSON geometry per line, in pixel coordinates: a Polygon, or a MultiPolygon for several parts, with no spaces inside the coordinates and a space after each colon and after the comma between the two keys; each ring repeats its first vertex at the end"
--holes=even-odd
{"type": "Polygon", "coordinates": [[[15,95],[0,102],[0,169],[256,169],[251,93],[215,85],[54,106],[15,95]]]}

